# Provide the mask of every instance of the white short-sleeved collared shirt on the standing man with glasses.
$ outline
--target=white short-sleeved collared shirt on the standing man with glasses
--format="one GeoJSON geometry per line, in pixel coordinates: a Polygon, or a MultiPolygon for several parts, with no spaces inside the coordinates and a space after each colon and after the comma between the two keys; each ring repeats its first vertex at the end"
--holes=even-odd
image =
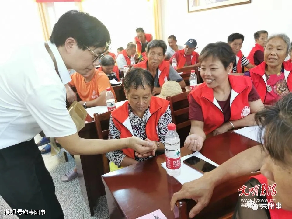
{"type": "Polygon", "coordinates": [[[0,65],[0,149],[29,141],[41,130],[47,137],[77,132],[66,109],[64,84],[71,78],[57,47],[48,44],[62,81],[44,43],[19,47],[0,65]]]}

